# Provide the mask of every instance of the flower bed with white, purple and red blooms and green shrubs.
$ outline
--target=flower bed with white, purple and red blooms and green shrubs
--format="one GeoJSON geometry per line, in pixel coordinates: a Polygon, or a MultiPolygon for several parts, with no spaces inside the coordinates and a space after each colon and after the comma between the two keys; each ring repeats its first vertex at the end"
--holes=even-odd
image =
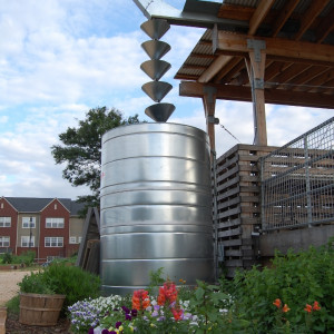
{"type": "MultiPolygon", "coordinates": [[[[159,272],[158,274],[161,274],[159,272]]],[[[334,333],[334,240],[276,255],[272,268],[254,267],[195,289],[161,282],[131,297],[86,299],[70,307],[75,333],[334,333]],[[156,292],[156,293],[153,293],[156,292]]]]}

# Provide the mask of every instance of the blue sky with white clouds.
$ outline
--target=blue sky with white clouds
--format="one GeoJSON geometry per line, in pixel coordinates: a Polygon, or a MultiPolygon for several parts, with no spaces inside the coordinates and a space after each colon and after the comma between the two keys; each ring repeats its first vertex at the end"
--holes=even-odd
{"type": "MultiPolygon", "coordinates": [[[[166,0],[183,9],[184,0],[166,0]]],[[[132,0],[0,0],[0,197],[88,195],[62,178],[51,146],[96,107],[139,115],[154,101],[141,86],[148,56],[140,45],[149,37],[132,0]]],[[[203,29],[171,26],[161,40],[171,69],[161,80],[173,85],[163,102],[176,110],[169,122],[206,128],[200,99],[178,96],[174,76],[203,29]]],[[[266,105],[268,145],[282,146],[333,116],[333,110],[266,105]]],[[[250,104],[217,101],[217,156],[238,143],[253,144],[250,104]]]]}

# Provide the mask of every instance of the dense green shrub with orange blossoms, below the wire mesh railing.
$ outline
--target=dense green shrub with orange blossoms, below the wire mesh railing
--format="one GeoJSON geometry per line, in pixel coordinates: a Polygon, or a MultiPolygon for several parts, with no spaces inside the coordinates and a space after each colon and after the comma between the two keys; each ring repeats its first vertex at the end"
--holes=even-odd
{"type": "MultiPolygon", "coordinates": [[[[238,272],[233,282],[222,282],[223,288],[234,296],[235,316],[253,324],[257,333],[273,328],[292,333],[333,333],[334,328],[334,247],[321,248],[286,256],[276,254],[272,268],[238,272]],[[275,299],[287,304],[289,311],[273,305],[275,299]],[[307,313],[306,304],[318,302],[321,310],[307,313]],[[289,328],[287,328],[289,327],[289,328]]],[[[281,333],[281,332],[277,332],[281,333]]]]}

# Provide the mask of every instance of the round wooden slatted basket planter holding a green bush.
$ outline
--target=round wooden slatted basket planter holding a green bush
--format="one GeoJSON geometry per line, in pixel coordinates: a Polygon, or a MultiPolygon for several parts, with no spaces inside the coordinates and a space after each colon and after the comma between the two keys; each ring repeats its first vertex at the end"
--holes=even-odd
{"type": "Polygon", "coordinates": [[[20,294],[19,322],[32,326],[57,324],[65,295],[20,294]]]}

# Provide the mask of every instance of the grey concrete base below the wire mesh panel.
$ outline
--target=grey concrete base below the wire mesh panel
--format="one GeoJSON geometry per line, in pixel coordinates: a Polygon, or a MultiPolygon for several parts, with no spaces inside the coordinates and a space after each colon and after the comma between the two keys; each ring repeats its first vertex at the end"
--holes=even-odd
{"type": "Polygon", "coordinates": [[[308,247],[322,246],[334,236],[334,224],[305,227],[293,230],[275,230],[259,236],[259,250],[262,257],[273,257],[275,249],[286,254],[288,248],[306,250],[308,247]]]}

